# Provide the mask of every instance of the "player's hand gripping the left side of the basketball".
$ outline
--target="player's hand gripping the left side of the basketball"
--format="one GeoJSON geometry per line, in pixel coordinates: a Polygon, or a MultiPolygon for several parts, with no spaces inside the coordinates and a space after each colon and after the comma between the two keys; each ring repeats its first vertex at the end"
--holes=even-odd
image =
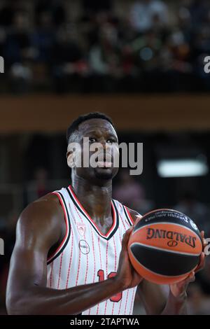
{"type": "Polygon", "coordinates": [[[137,286],[143,278],[134,270],[129,259],[127,243],[132,233],[133,227],[125,232],[122,241],[122,250],[120,253],[118,272],[115,279],[122,284],[123,290],[137,286]]]}

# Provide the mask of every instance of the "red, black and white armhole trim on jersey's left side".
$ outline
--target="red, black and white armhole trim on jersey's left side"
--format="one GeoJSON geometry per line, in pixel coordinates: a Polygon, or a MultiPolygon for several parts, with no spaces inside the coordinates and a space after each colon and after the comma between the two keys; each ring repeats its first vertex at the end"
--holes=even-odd
{"type": "Polygon", "coordinates": [[[66,234],[65,234],[64,239],[62,240],[61,244],[57,247],[56,251],[48,257],[47,265],[49,265],[50,262],[53,262],[53,260],[55,260],[55,258],[57,258],[64,251],[64,248],[66,247],[66,244],[68,243],[70,234],[71,234],[71,224],[70,224],[69,212],[66,207],[66,202],[64,200],[64,197],[63,197],[62,193],[60,193],[59,191],[52,192],[51,194],[57,195],[57,197],[59,198],[59,203],[61,204],[62,209],[64,211],[64,218],[65,218],[65,223],[66,223],[66,234]]]}

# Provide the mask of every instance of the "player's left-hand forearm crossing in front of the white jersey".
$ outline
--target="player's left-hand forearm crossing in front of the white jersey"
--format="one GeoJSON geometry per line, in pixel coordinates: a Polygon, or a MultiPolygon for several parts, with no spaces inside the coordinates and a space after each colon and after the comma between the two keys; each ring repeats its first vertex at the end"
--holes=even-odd
{"type": "Polygon", "coordinates": [[[114,278],[66,290],[34,286],[8,301],[8,314],[79,314],[120,291],[114,278]]]}

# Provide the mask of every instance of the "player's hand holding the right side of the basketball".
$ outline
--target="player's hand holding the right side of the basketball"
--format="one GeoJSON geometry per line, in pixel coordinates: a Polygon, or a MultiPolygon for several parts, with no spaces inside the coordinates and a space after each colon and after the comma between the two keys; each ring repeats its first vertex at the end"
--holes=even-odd
{"type": "Polygon", "coordinates": [[[186,295],[186,290],[188,288],[188,284],[190,282],[195,281],[195,273],[199,272],[201,269],[205,266],[205,254],[204,254],[204,248],[207,246],[207,241],[204,238],[204,231],[200,232],[200,235],[202,237],[202,245],[203,245],[203,251],[200,255],[200,262],[197,265],[196,269],[187,276],[186,279],[179,281],[178,283],[170,284],[170,290],[174,297],[181,297],[183,295],[186,295]]]}

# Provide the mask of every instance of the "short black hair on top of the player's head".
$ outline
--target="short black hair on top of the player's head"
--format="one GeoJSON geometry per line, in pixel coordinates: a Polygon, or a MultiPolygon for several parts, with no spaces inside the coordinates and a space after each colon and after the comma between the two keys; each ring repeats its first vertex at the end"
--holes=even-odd
{"type": "Polygon", "coordinates": [[[84,121],[87,121],[90,119],[106,120],[109,123],[111,123],[111,125],[115,129],[113,122],[112,122],[111,118],[109,118],[109,116],[106,116],[106,114],[100,113],[100,112],[90,112],[88,114],[84,114],[83,116],[78,116],[78,118],[76,118],[76,120],[73,120],[71,125],[68,127],[68,129],[66,131],[66,141],[68,144],[69,144],[69,138],[71,137],[71,134],[73,134],[73,132],[75,132],[78,129],[78,125],[80,125],[80,123],[83,123],[84,121]]]}

